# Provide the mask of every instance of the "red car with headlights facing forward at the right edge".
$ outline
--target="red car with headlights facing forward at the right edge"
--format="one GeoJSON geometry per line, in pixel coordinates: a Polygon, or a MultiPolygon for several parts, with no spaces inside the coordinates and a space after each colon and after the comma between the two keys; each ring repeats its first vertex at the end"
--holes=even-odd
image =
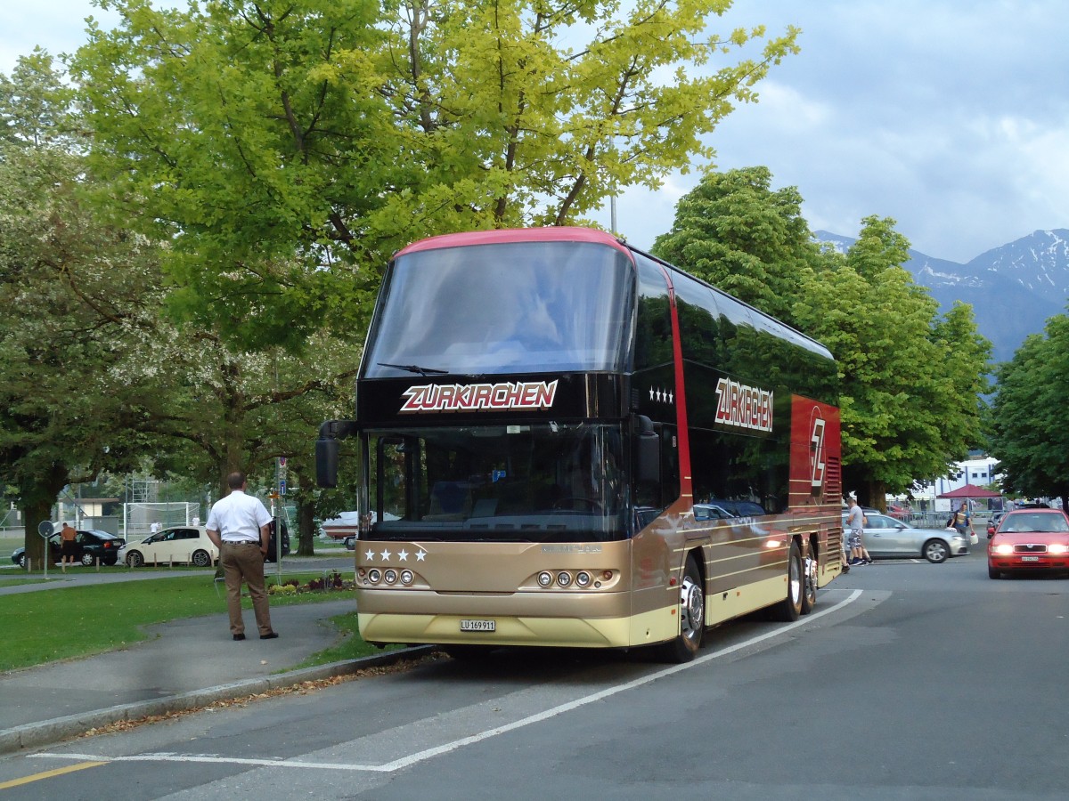
{"type": "Polygon", "coordinates": [[[988,576],[1004,571],[1069,572],[1069,517],[1062,509],[1014,509],[988,540],[988,576]]]}

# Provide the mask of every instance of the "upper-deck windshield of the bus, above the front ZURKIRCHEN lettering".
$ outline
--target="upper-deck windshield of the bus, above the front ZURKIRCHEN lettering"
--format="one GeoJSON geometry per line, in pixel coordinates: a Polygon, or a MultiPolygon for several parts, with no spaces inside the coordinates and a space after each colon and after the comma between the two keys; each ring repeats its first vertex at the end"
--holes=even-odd
{"type": "Polygon", "coordinates": [[[634,268],[605,245],[441,248],[391,265],[365,378],[625,368],[634,268]]]}

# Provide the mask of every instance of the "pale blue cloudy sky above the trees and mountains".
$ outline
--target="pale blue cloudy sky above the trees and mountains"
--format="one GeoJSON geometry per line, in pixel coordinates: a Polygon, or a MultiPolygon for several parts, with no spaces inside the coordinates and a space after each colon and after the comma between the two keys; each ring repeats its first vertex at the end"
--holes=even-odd
{"type": "MultiPolygon", "coordinates": [[[[87,16],[115,19],[91,0],[2,6],[4,74],[35,45],[77,49],[87,16]]],[[[964,263],[1069,229],[1065,0],[735,0],[713,25],[802,29],[801,53],[710,143],[716,169],[764,166],[774,188],[797,187],[811,230],[856,236],[863,218],[889,217],[915,250],[964,263]]],[[[698,179],[622,190],[619,232],[648,249],[698,179]]],[[[608,227],[609,206],[593,217],[608,227]]]]}

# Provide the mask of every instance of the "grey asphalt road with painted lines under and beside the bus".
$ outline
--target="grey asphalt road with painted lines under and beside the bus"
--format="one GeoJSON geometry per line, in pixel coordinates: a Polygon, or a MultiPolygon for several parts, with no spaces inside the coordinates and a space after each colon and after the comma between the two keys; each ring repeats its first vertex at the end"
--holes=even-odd
{"type": "Polygon", "coordinates": [[[1059,799],[1069,579],[991,581],[985,539],[878,563],[699,658],[500,651],[0,761],[5,799],[1059,799]]]}

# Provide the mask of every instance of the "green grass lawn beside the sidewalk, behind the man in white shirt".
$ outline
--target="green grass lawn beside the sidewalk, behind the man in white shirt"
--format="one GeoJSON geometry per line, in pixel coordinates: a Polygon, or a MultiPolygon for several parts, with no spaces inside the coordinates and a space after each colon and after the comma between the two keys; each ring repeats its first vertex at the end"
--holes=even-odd
{"type": "MultiPolygon", "coordinates": [[[[306,583],[322,576],[322,571],[316,571],[284,578],[306,583]]],[[[274,583],[273,577],[268,576],[267,583],[274,583]]],[[[285,607],[345,597],[353,597],[352,591],[272,595],[270,603],[285,607]]],[[[248,598],[243,599],[243,606],[252,609],[248,598]]],[[[172,576],[4,595],[0,597],[0,631],[4,639],[0,671],[114,650],[146,639],[143,631],[146,626],[220,613],[226,613],[226,599],[216,594],[212,578],[205,576],[172,576]],[[61,621],[62,625],[57,625],[61,621]]],[[[301,666],[378,653],[375,646],[360,639],[355,614],[339,615],[332,623],[347,632],[342,642],[301,666]]]]}

